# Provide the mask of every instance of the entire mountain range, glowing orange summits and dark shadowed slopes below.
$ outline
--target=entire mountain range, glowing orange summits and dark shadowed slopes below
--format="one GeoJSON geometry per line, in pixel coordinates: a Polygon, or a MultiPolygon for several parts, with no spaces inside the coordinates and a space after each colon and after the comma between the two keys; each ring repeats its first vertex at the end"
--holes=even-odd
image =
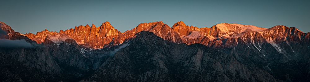
{"type": "Polygon", "coordinates": [[[96,27],[15,32],[0,22],[1,81],[309,82],[310,32],[283,25],[96,27]]]}

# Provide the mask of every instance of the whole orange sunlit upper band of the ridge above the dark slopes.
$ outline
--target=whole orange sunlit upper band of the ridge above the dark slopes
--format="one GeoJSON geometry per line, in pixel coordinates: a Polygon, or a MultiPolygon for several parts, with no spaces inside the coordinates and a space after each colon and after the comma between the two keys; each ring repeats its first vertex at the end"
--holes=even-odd
{"type": "Polygon", "coordinates": [[[95,27],[94,24],[90,27],[87,24],[86,26],[81,25],[65,31],[49,32],[46,29],[37,32],[35,35],[32,33],[24,35],[37,43],[42,43],[48,34],[66,34],[79,45],[92,49],[99,49],[122,44],[124,41],[135,38],[135,34],[141,31],[153,32],[155,35],[175,43],[186,43],[188,45],[199,43],[209,47],[231,47],[237,45],[238,41],[253,42],[253,44],[255,42],[270,42],[274,39],[281,39],[281,41],[288,39],[289,41],[294,41],[298,40],[298,38],[296,38],[298,36],[308,38],[310,34],[305,34],[296,28],[288,28],[285,26],[275,26],[267,29],[252,25],[221,23],[210,28],[197,28],[188,26],[182,21],[175,23],[170,28],[167,24],[159,21],[142,23],[126,32],[119,32],[109,22],[104,22],[100,27],[95,27]],[[258,41],[251,41],[251,38],[258,41]]]}

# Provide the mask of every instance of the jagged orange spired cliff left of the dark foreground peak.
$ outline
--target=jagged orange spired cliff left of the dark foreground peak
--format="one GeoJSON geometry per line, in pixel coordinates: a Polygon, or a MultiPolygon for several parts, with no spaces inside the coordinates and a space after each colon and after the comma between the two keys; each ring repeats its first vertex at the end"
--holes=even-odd
{"type": "Polygon", "coordinates": [[[37,43],[44,42],[45,37],[55,34],[66,34],[73,38],[79,45],[85,45],[92,49],[102,48],[105,44],[112,41],[114,37],[118,35],[119,31],[114,29],[109,22],[104,22],[100,27],[95,27],[93,24],[91,27],[87,24],[86,26],[78,26],[74,29],[67,29],[65,31],[60,30],[59,32],[49,32],[47,29],[41,32],[37,32],[36,35],[29,33],[25,36],[36,41],[37,43]]]}

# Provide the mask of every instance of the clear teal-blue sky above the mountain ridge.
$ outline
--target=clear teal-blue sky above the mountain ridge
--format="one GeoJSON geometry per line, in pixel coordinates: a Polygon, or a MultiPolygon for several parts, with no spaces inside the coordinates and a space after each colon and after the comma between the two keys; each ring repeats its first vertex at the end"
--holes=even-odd
{"type": "Polygon", "coordinates": [[[263,28],[285,25],[310,32],[309,4],[308,0],[2,0],[0,21],[23,34],[45,28],[58,32],[86,24],[98,27],[105,21],[121,32],[155,21],[170,27],[183,21],[198,28],[224,22],[263,28]]]}

